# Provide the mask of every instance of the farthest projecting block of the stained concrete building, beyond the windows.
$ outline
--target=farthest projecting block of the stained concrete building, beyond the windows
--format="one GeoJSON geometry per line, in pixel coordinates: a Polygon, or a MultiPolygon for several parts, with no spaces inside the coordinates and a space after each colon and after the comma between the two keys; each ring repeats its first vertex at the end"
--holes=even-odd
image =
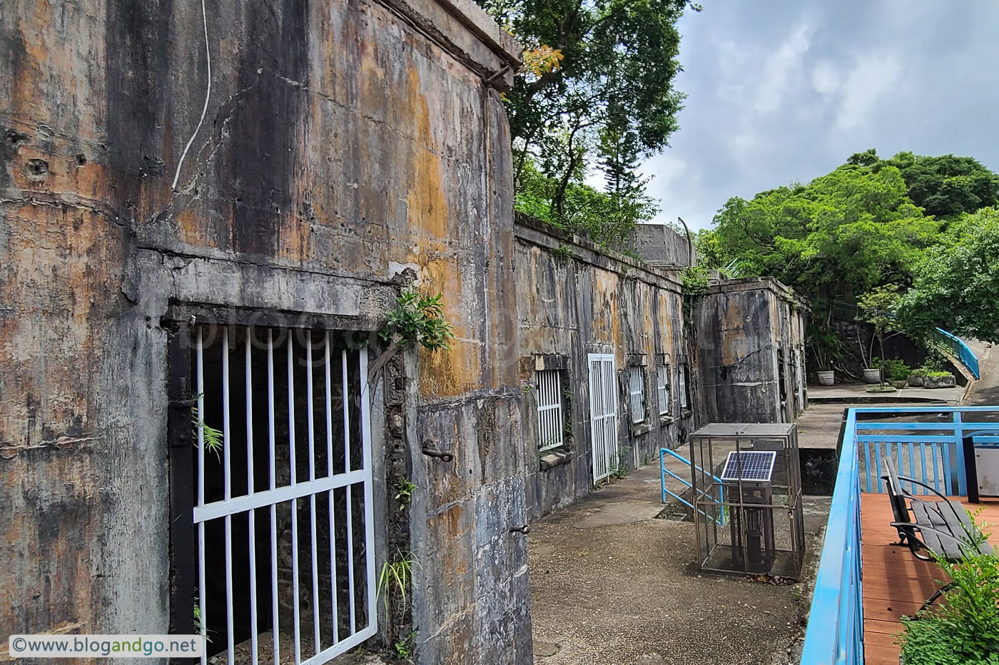
{"type": "Polygon", "coordinates": [[[715,282],[696,299],[698,423],[789,422],[804,410],[806,313],[771,278],[715,282]]]}

